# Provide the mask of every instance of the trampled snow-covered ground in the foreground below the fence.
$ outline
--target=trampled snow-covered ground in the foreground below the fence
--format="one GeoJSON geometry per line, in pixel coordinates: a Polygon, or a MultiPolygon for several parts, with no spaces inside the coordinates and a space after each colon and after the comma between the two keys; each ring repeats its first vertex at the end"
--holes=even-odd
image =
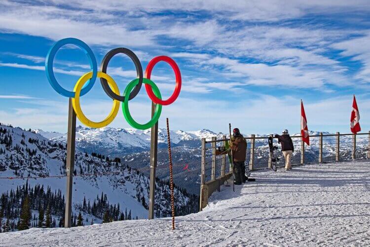
{"type": "Polygon", "coordinates": [[[258,171],[203,211],[71,229],[1,233],[1,246],[369,246],[370,162],[258,171]]]}

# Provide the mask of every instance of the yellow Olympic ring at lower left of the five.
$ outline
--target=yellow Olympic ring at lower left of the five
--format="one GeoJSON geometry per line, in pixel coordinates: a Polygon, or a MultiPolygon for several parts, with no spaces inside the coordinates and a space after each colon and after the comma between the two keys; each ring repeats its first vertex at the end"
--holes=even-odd
{"type": "MultiPolygon", "coordinates": [[[[79,97],[80,97],[82,86],[87,82],[87,80],[91,79],[92,76],[93,76],[93,72],[89,72],[83,75],[80,79],[78,79],[77,83],[74,86],[75,96],[74,98],[72,98],[72,105],[73,105],[73,109],[74,109],[74,112],[76,113],[77,118],[79,119],[79,121],[81,121],[82,124],[85,124],[93,128],[101,128],[101,127],[107,126],[108,124],[111,124],[115,116],[117,116],[120,102],[118,100],[113,100],[113,107],[111,109],[111,112],[108,115],[108,117],[102,122],[93,122],[89,120],[82,113],[81,105],[79,103],[79,97]]],[[[117,84],[114,82],[114,80],[109,75],[103,72],[98,72],[97,77],[107,80],[108,84],[111,86],[112,91],[115,94],[120,95],[117,84]]]]}

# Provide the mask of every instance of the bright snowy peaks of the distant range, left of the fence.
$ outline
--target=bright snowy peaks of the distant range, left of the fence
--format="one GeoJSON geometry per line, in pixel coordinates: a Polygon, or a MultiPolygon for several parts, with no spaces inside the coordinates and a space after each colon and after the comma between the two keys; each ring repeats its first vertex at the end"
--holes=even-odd
{"type": "MultiPolygon", "coordinates": [[[[48,132],[41,129],[34,130],[52,141],[66,143],[67,133],[48,132]]],[[[208,129],[185,132],[183,130],[170,131],[173,147],[198,147],[201,138],[211,139],[212,136],[222,137],[208,129]]],[[[102,153],[112,157],[147,151],[150,148],[150,129],[138,130],[133,128],[87,128],[76,127],[76,146],[79,150],[88,153],[102,153]]],[[[158,147],[167,147],[167,130],[158,129],[158,147]]]]}

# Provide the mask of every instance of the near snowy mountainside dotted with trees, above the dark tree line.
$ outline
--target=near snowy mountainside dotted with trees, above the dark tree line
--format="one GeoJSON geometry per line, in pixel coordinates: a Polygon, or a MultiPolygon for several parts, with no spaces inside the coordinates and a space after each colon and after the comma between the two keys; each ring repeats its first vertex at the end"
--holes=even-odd
{"type": "MultiPolygon", "coordinates": [[[[83,133],[83,130],[79,131],[83,133]]],[[[35,132],[0,125],[0,177],[3,178],[0,179],[0,193],[15,190],[28,182],[30,188],[41,184],[45,189],[50,187],[51,191],[60,190],[65,194],[66,147],[40,135],[45,132],[35,132]]],[[[107,197],[105,202],[109,200],[110,205],[119,204],[122,210],[131,210],[132,218],[148,217],[149,179],[141,171],[121,163],[119,158],[91,155],[79,150],[75,152],[74,168],[75,212],[84,198],[92,205],[97,196],[104,194],[107,197]]],[[[155,195],[157,217],[170,215],[169,193],[168,183],[158,179],[155,195]]],[[[196,196],[176,187],[175,197],[178,214],[197,211],[196,196]]],[[[95,219],[95,222],[99,220],[101,222],[101,219],[95,219]]]]}

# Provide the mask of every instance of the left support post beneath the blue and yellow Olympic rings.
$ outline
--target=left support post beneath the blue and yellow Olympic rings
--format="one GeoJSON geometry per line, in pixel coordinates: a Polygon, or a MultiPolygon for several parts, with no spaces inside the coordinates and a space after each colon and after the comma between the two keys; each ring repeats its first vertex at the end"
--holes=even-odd
{"type": "Polygon", "coordinates": [[[67,133],[67,190],[66,190],[66,210],[64,214],[64,227],[71,227],[72,215],[72,192],[73,192],[73,172],[74,172],[74,149],[76,138],[76,114],[72,106],[72,98],[68,105],[68,133],[67,133]]]}

